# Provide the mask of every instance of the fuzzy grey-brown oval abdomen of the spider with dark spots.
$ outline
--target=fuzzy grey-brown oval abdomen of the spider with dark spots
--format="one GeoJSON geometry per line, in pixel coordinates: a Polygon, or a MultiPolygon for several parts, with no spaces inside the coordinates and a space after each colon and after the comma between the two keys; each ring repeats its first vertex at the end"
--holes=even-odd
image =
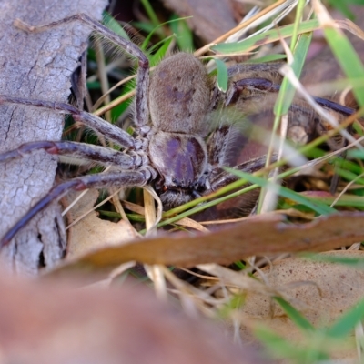
{"type": "Polygon", "coordinates": [[[149,87],[149,107],[158,130],[206,136],[209,102],[207,71],[195,56],[177,53],[157,66],[149,87]]]}

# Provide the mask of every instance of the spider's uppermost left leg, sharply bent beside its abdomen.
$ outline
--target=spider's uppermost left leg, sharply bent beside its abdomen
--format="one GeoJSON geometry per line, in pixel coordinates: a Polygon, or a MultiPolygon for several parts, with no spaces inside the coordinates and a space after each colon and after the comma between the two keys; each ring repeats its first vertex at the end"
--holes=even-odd
{"type": "Polygon", "coordinates": [[[135,124],[141,131],[143,131],[143,126],[147,126],[149,114],[148,114],[148,98],[147,90],[149,87],[149,61],[147,56],[143,53],[141,49],[137,47],[134,43],[126,40],[125,38],[116,35],[110,31],[105,25],[100,24],[92,17],[80,13],[76,15],[68,16],[64,19],[58,20],[56,22],[49,23],[47,25],[27,25],[23,21],[16,19],[14,25],[18,28],[24,30],[25,32],[44,32],[47,29],[53,28],[58,25],[64,25],[67,23],[82,22],[89,26],[96,33],[105,36],[107,39],[111,40],[116,45],[124,48],[126,52],[135,56],[138,60],[137,68],[137,87],[136,87],[136,110],[135,110],[135,124]]]}

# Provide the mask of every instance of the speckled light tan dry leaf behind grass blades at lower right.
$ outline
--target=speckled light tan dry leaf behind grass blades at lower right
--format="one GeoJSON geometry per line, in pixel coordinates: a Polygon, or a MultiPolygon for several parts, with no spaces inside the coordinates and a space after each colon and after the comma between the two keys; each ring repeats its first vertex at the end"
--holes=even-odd
{"type": "MultiPolygon", "coordinates": [[[[364,252],[359,250],[337,250],[322,255],[364,258],[364,252]]],[[[328,326],[364,296],[364,270],[347,265],[287,258],[263,268],[262,273],[268,286],[284,291],[289,303],[315,327],[328,326]]],[[[246,339],[253,337],[250,329],[258,323],[286,339],[298,342],[303,338],[298,326],[267,295],[249,291],[242,314],[240,319],[246,339]],[[244,322],[248,322],[248,327],[244,322]]],[[[352,350],[351,354],[354,356],[356,351],[352,350]]]]}

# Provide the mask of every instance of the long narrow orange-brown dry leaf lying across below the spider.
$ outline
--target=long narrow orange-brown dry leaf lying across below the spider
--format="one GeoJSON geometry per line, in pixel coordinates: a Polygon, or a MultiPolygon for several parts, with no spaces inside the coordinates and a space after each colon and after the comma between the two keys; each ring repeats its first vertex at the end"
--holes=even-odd
{"type": "Polygon", "coordinates": [[[308,224],[287,224],[282,217],[250,217],[234,227],[203,234],[161,234],[122,246],[100,249],[69,261],[53,274],[111,269],[127,261],[193,267],[228,264],[268,253],[325,251],[364,240],[364,213],[343,212],[308,224]]]}

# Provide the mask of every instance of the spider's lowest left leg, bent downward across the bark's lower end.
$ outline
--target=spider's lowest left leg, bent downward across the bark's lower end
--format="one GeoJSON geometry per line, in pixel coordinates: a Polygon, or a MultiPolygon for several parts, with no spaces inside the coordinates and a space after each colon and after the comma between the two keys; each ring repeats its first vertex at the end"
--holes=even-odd
{"type": "Polygon", "coordinates": [[[15,234],[33,218],[36,214],[47,207],[52,201],[66,195],[70,190],[82,191],[86,188],[107,188],[107,187],[136,187],[147,183],[149,171],[122,171],[111,173],[98,173],[77,177],[53,187],[49,193],[32,207],[14,227],[8,230],[0,240],[0,248],[9,244],[15,234]]]}

